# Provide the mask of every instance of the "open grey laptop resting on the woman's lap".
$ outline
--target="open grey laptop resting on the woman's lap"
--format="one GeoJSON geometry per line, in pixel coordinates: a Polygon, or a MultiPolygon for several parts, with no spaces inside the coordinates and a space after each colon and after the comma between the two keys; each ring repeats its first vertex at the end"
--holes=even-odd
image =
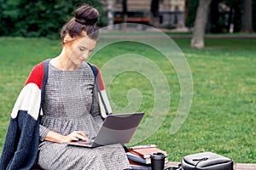
{"type": "Polygon", "coordinates": [[[144,112],[108,115],[95,139],[78,140],[67,144],[94,148],[108,144],[127,144],[130,142],[144,112]]]}

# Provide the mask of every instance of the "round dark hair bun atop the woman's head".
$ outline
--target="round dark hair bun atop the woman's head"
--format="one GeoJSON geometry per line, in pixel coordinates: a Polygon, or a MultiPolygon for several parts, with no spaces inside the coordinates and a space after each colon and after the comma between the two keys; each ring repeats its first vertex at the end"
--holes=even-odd
{"type": "Polygon", "coordinates": [[[93,26],[99,20],[99,12],[96,8],[83,5],[75,12],[75,20],[83,25],[93,26]]]}

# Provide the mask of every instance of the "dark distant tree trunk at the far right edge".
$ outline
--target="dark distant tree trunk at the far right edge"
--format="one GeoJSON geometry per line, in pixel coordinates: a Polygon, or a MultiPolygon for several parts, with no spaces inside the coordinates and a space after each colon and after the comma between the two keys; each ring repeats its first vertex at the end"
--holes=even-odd
{"type": "Polygon", "coordinates": [[[244,33],[252,33],[253,26],[252,26],[252,0],[244,0],[243,1],[243,13],[241,16],[241,32],[244,33]]]}

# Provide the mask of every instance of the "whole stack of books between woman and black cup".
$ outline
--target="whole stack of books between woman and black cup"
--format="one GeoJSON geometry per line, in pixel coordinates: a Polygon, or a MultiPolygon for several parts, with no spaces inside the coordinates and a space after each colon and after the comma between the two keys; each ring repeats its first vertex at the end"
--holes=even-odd
{"type": "Polygon", "coordinates": [[[167,153],[160,150],[155,144],[137,145],[130,147],[126,156],[130,161],[131,169],[151,170],[150,156],[153,153],[161,152],[166,155],[165,163],[168,162],[167,153]]]}

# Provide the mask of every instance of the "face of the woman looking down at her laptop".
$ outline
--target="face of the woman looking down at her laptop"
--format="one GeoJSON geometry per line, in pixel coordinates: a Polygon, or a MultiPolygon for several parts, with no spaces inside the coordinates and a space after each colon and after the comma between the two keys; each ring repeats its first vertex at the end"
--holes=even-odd
{"type": "Polygon", "coordinates": [[[90,53],[96,47],[96,40],[90,39],[90,37],[79,37],[68,42],[67,57],[73,63],[73,65],[82,65],[84,59],[88,59],[90,53]]]}

